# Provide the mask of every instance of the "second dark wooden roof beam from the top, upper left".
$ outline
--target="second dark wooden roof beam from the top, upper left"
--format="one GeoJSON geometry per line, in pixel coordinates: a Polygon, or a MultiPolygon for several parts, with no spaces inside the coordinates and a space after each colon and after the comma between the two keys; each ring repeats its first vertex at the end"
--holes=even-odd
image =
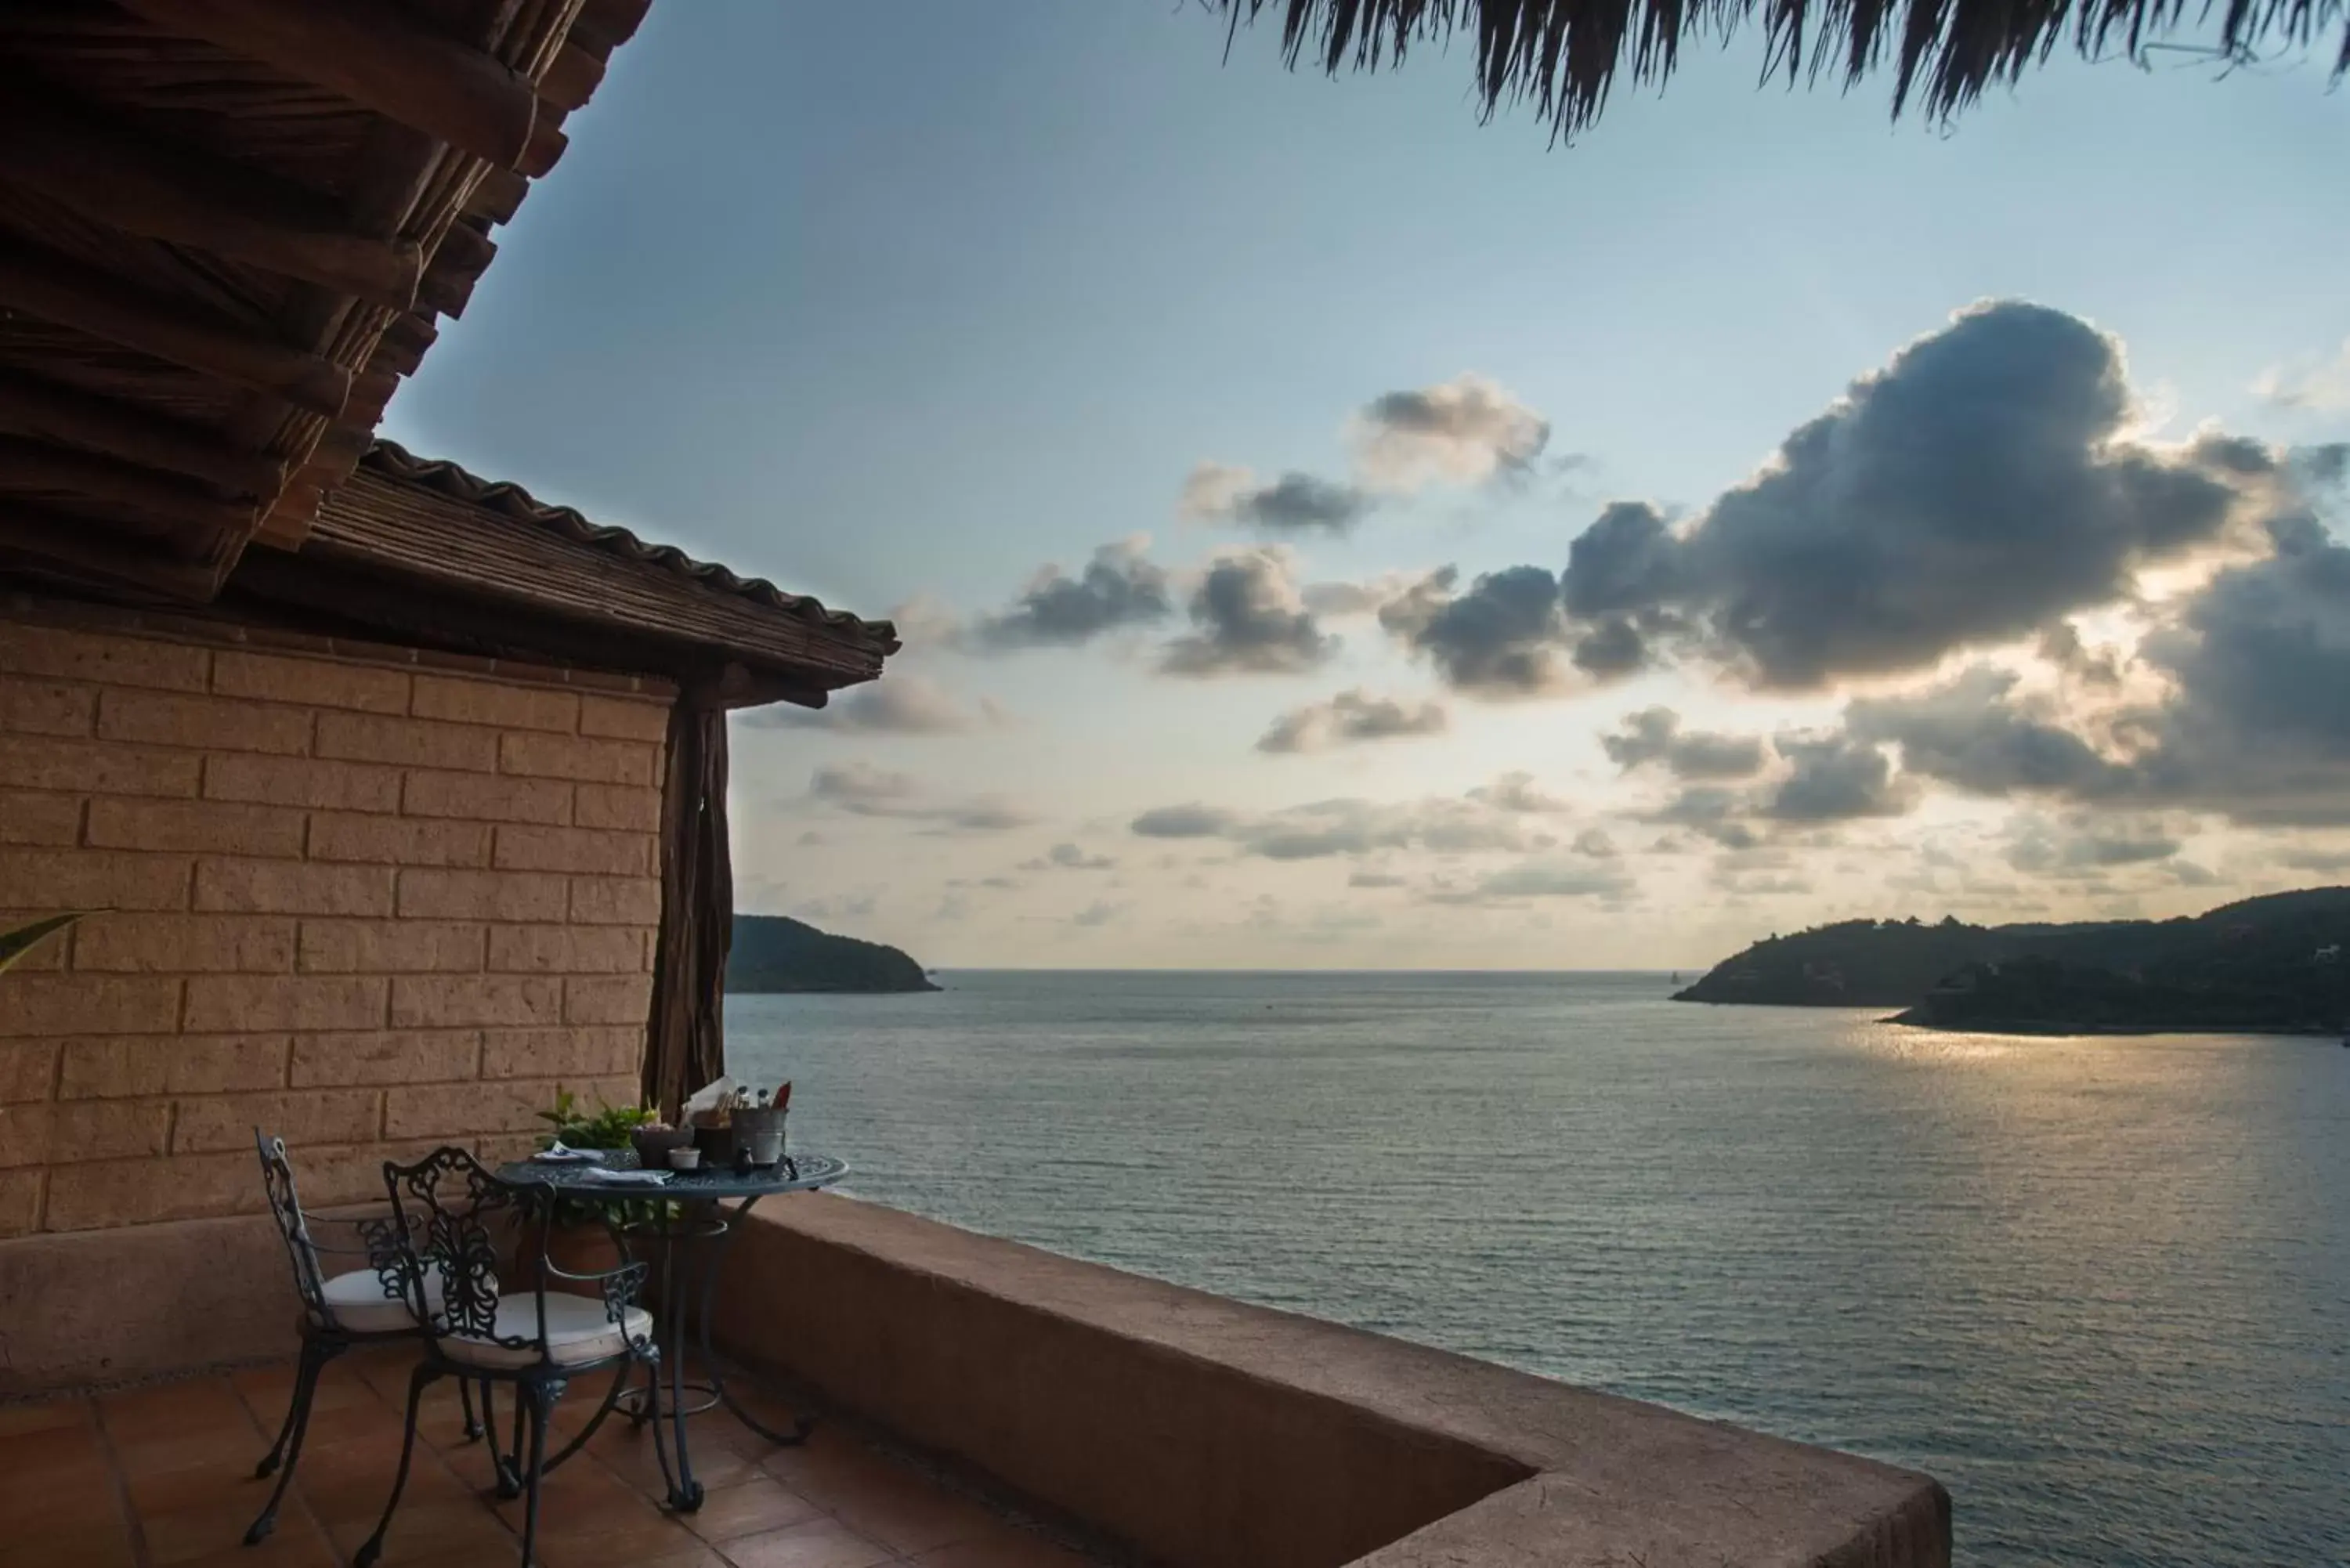
{"type": "Polygon", "coordinates": [[[298,186],[0,80],[0,179],[85,219],[407,310],[423,259],[298,186]]]}

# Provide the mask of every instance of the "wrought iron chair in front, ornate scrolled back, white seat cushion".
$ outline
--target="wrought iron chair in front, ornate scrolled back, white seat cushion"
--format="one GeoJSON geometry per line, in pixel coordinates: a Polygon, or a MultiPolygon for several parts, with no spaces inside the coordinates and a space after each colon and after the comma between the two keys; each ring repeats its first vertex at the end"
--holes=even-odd
{"type": "MultiPolygon", "coordinates": [[[[651,1413],[653,1450],[663,1476],[670,1476],[670,1448],[660,1432],[660,1347],[653,1342],[653,1314],[637,1305],[646,1265],[578,1274],[555,1262],[548,1251],[555,1229],[557,1194],[543,1182],[498,1180],[465,1150],[435,1150],[414,1166],[383,1164],[383,1185],[392,1194],[397,1225],[395,1269],[402,1293],[425,1324],[425,1354],[409,1375],[409,1415],[400,1439],[400,1472],[383,1505],[376,1533],[352,1554],[355,1568],[369,1568],[383,1554],[383,1535],[400,1509],[409,1483],[409,1460],[416,1453],[416,1413],[425,1389],[439,1378],[482,1382],[484,1410],[496,1382],[515,1387],[515,1453],[498,1455],[491,1422],[489,1446],[496,1460],[498,1490],[522,1495],[522,1566],[531,1568],[538,1544],[538,1479],[548,1467],[548,1420],[573,1378],[616,1368],[613,1392],[588,1432],[564,1455],[588,1441],[595,1425],[611,1410],[620,1385],[634,1366],[646,1371],[646,1410],[651,1413]],[[512,1244],[515,1262],[531,1274],[529,1291],[505,1291],[498,1284],[501,1241],[512,1244]],[[557,1281],[550,1288],[550,1281],[557,1281]],[[562,1288],[562,1281],[588,1286],[595,1295],[562,1288]]],[[[618,1237],[616,1237],[618,1241],[618,1237]]],[[[625,1253],[623,1253],[625,1258],[625,1253]]],[[[672,1410],[672,1420],[677,1420],[672,1410]]],[[[674,1481],[672,1481],[674,1488],[674,1481]]]]}

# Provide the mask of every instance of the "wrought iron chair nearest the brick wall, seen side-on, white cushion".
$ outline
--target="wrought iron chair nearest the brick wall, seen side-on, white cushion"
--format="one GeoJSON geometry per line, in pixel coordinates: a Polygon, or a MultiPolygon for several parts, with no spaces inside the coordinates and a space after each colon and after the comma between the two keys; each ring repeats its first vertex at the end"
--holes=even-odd
{"type": "MultiPolygon", "coordinates": [[[[277,1528],[277,1505],[294,1481],[301,1460],[301,1443],[310,1429],[310,1401],[317,1396],[317,1378],[327,1363],[355,1345],[381,1345],[390,1340],[414,1340],[423,1324],[409,1307],[409,1295],[397,1267],[400,1239],[388,1218],[360,1220],[364,1246],[322,1246],[310,1234],[310,1220],[301,1211],[301,1194],[294,1187],[294,1166],[287,1161],[284,1138],[270,1138],[254,1128],[254,1150],[261,1154],[261,1187],[270,1199],[270,1218],[287,1244],[294,1262],[294,1293],[301,1298],[301,1361],[294,1368],[294,1396],[287,1401],[284,1425],[277,1441],[254,1467],[254,1479],[277,1472],[277,1488],[268,1507],[244,1533],[247,1544],[261,1542],[277,1528]],[[327,1272],[329,1258],[364,1258],[367,1267],[327,1272]]],[[[439,1293],[437,1279],[428,1284],[439,1293]]],[[[472,1415],[472,1392],[465,1389],[465,1436],[482,1436],[482,1425],[472,1415]]]]}

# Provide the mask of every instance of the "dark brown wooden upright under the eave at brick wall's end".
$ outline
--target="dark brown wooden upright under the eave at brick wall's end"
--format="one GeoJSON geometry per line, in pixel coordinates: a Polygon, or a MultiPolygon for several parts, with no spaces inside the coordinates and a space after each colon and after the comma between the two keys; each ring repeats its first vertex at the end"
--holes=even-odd
{"type": "Polygon", "coordinates": [[[660,792],[660,943],[644,1051],[644,1103],[677,1121],[689,1093],[726,1067],[726,950],[733,863],[726,844],[726,710],[679,696],[660,792]]]}

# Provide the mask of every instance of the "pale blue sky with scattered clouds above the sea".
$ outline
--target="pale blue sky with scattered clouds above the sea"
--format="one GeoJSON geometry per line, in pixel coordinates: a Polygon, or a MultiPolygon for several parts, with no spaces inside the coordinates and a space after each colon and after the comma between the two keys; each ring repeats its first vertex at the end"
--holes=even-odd
{"type": "Polygon", "coordinates": [[[653,7],[383,433],[893,616],[738,903],[931,966],[1697,969],[2350,882],[2350,92],[1556,143],[1170,0],[653,7]]]}

